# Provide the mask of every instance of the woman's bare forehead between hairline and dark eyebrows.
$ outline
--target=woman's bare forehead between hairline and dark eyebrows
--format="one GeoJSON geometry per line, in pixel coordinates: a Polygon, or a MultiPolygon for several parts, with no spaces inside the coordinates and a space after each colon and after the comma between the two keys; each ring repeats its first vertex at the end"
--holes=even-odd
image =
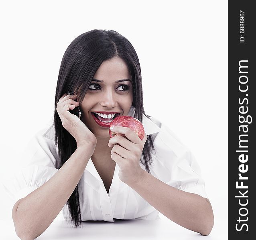
{"type": "Polygon", "coordinates": [[[131,78],[131,76],[126,62],[122,58],[115,57],[102,62],[93,78],[105,82],[131,78]]]}

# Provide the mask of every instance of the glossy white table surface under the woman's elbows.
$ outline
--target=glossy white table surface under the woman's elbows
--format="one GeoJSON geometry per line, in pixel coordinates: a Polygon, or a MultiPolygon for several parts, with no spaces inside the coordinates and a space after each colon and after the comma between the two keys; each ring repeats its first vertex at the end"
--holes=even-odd
{"type": "MultiPolygon", "coordinates": [[[[0,239],[20,239],[12,221],[0,221],[0,239]]],[[[202,236],[175,224],[168,218],[161,220],[116,220],[115,222],[86,221],[82,228],[71,228],[65,220],[54,220],[38,240],[98,240],[98,239],[138,239],[138,240],[227,240],[227,218],[215,219],[208,236],[202,236]]]]}

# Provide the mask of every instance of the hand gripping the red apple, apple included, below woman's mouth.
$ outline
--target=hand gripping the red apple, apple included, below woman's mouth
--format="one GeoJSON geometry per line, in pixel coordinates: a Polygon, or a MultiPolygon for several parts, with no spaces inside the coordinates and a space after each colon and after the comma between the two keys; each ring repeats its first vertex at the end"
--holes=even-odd
{"type": "Polygon", "coordinates": [[[114,128],[109,131],[108,146],[112,147],[111,158],[120,168],[120,180],[128,185],[138,181],[144,171],[140,167],[140,158],[147,135],[142,123],[135,119],[130,116],[116,117],[111,122],[114,128]],[[115,123],[115,120],[118,121],[115,123]]]}

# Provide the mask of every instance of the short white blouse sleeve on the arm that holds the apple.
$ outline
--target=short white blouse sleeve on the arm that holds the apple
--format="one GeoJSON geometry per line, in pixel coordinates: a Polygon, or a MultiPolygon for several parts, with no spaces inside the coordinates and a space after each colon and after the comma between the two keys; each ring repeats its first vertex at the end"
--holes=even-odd
{"type": "Polygon", "coordinates": [[[156,177],[169,186],[207,198],[201,170],[191,150],[165,125],[154,138],[156,177]]]}

